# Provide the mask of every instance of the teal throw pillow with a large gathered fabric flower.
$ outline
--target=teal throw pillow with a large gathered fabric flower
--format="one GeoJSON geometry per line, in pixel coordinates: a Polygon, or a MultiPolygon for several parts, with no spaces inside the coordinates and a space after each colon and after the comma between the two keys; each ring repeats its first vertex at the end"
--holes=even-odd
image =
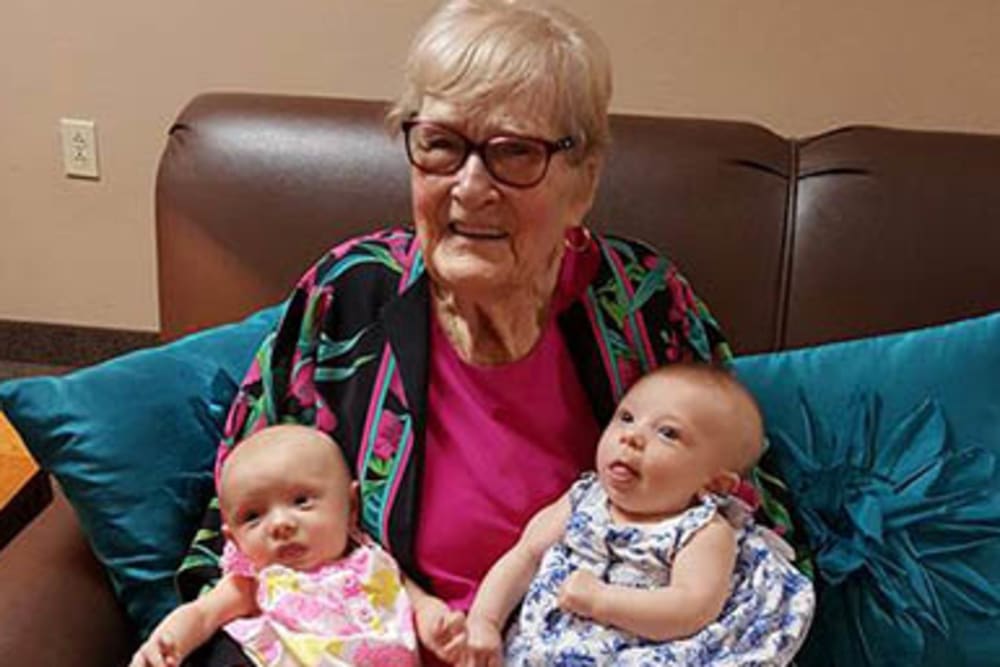
{"type": "Polygon", "coordinates": [[[735,368],[816,568],[799,664],[996,664],[1000,311],[735,368]]]}

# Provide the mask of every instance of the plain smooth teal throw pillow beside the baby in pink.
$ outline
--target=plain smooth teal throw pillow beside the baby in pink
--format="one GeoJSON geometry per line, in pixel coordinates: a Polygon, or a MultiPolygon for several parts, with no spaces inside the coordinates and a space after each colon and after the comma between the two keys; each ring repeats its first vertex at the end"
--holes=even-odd
{"type": "Polygon", "coordinates": [[[279,313],[0,384],[0,410],[59,480],[142,636],[179,602],[174,570],[214,491],[229,403],[279,313]]]}

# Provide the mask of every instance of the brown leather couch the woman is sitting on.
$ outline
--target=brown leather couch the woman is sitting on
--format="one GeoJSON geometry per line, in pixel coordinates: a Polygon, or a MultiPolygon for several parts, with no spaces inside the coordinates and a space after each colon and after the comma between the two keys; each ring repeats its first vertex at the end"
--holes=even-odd
{"type": "MultiPolygon", "coordinates": [[[[165,339],[280,300],[325,248],[409,217],[384,105],[211,94],[156,189],[165,339]]],[[[616,116],[591,224],[676,259],[737,353],[1000,308],[1000,137],[616,116]]],[[[60,494],[0,553],[0,664],[106,667],[131,637],[60,494]]]]}

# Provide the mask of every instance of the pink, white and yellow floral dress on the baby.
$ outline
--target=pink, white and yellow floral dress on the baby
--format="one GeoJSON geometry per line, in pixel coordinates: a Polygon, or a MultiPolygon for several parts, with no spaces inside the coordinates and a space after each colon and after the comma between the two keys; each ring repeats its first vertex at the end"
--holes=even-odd
{"type": "Polygon", "coordinates": [[[310,572],[254,568],[226,543],[224,573],[257,581],[261,613],[226,625],[256,665],[417,665],[413,614],[395,561],[377,545],[356,546],[310,572]]]}

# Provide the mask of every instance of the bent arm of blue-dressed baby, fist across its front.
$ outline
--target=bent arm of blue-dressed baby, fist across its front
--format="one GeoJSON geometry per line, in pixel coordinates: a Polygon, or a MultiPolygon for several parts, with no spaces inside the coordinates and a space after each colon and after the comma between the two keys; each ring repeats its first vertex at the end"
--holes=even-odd
{"type": "Polygon", "coordinates": [[[736,534],[716,516],[677,554],[668,586],[615,586],[577,570],[563,584],[559,605],[651,641],[687,637],[718,618],[735,565],[736,534]]]}

